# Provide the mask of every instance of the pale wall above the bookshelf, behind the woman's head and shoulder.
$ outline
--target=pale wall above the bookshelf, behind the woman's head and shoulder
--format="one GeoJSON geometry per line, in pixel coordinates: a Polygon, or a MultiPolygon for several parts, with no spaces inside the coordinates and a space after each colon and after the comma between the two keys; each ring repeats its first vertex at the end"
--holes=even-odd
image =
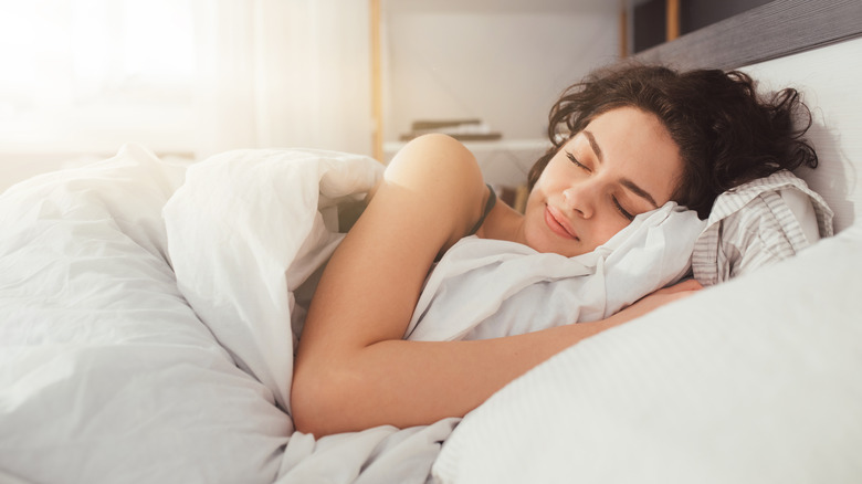
{"type": "Polygon", "coordinates": [[[504,139],[544,137],[558,94],[619,51],[617,2],[390,0],[385,139],[417,118],[482,118],[504,139]]]}

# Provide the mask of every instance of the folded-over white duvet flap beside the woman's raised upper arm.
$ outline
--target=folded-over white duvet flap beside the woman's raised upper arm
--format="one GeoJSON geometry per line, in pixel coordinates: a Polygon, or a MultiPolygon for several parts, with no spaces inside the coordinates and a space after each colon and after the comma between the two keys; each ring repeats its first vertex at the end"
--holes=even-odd
{"type": "Polygon", "coordinates": [[[381,175],[378,161],[360,155],[229,151],[189,168],[162,210],[182,295],[288,412],[305,316],[296,292],[344,236],[332,223],[335,207],[364,198],[381,175]]]}

